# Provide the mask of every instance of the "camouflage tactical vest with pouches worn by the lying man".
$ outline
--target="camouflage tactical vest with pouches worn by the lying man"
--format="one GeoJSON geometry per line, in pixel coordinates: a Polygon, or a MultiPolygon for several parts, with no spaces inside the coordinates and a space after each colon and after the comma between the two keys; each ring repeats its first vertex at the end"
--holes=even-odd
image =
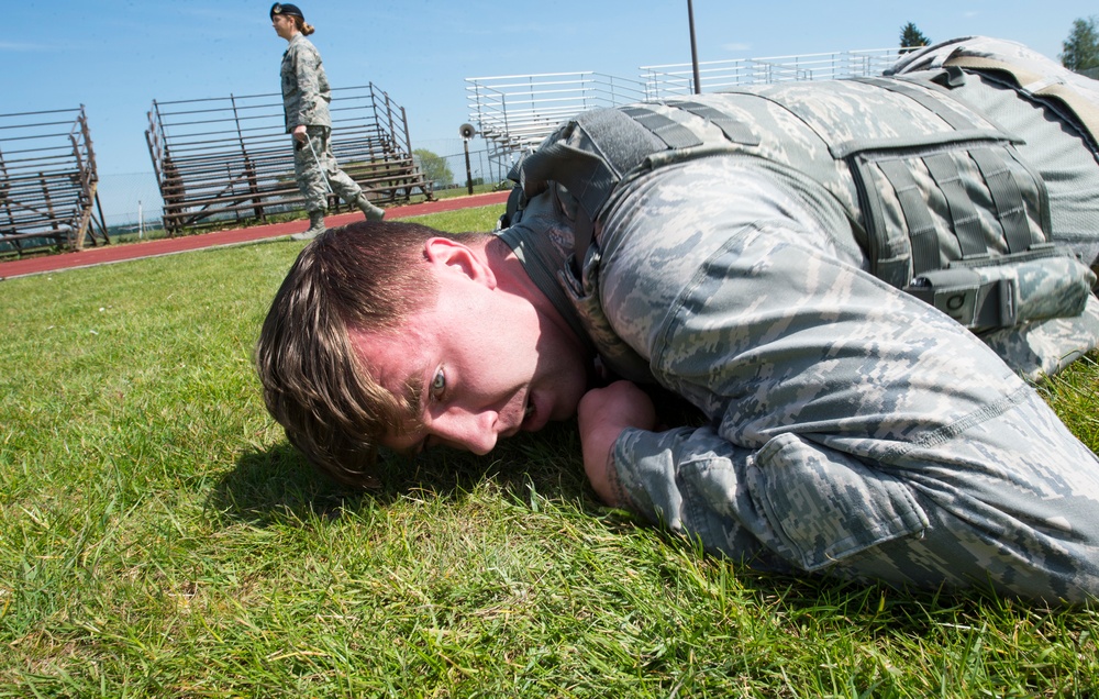
{"type": "MultiPolygon", "coordinates": [[[[943,85],[964,79],[939,74],[943,85]]],[[[623,182],[715,154],[809,178],[844,210],[884,281],[974,330],[1083,312],[1095,275],[1051,240],[1019,141],[936,82],[790,82],[585,112],[513,170],[506,219],[550,181],[577,200],[582,265],[623,182]]],[[[506,221],[507,223],[507,221],[506,221]]]]}

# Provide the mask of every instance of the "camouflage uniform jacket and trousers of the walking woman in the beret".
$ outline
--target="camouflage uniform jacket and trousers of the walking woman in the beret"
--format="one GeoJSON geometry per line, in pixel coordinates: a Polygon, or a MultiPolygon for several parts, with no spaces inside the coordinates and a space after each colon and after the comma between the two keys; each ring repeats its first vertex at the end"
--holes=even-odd
{"type": "Polygon", "coordinates": [[[280,73],[286,132],[306,124],[309,138],[309,143],[293,142],[293,175],[298,189],[306,198],[306,209],[328,209],[329,186],[344,201],[355,202],[363,189],[340,169],[332,154],[332,118],[329,115],[332,92],[321,64],[321,54],[303,34],[296,34],[290,40],[282,54],[280,73]]]}

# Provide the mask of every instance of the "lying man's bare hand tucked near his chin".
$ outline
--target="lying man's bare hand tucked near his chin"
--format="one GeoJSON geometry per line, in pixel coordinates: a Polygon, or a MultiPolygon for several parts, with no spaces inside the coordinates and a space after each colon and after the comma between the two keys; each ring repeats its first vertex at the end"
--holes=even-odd
{"type": "Polygon", "coordinates": [[[630,381],[615,381],[607,388],[588,391],[577,407],[584,471],[599,497],[611,506],[622,506],[612,487],[614,442],[626,428],[652,430],[656,426],[653,401],[630,381]]]}

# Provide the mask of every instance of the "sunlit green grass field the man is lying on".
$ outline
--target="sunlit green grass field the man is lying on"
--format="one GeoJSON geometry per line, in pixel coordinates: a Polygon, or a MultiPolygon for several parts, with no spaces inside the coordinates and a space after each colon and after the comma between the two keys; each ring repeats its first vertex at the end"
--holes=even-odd
{"type": "MultiPolygon", "coordinates": [[[[0,284],[0,696],[1099,696],[1099,607],[744,570],[601,508],[574,424],[312,475],[251,366],[301,245],[0,284]]],[[[1097,393],[1047,389],[1092,450],[1097,393]]]]}

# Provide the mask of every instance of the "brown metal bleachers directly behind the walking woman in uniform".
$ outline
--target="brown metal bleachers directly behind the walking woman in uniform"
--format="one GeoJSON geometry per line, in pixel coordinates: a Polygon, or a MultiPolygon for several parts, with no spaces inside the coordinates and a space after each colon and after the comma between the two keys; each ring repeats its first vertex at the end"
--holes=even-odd
{"type": "MultiPolygon", "coordinates": [[[[375,204],[433,199],[404,109],[373,84],[332,90],[332,151],[375,204]]],[[[153,101],[145,132],[169,235],[302,208],[279,93],[153,101]]],[[[342,202],[330,196],[330,207],[342,202]]]]}

